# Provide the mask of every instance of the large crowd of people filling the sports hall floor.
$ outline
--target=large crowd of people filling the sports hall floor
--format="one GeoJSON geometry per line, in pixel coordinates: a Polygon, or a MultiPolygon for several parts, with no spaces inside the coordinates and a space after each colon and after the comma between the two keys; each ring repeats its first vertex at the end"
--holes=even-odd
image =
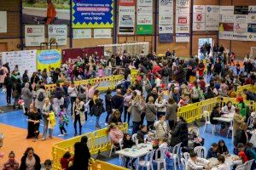
{"type": "MultiPolygon", "coordinates": [[[[42,140],[47,137],[53,138],[53,130],[57,124],[55,116],[58,117],[60,136],[68,133],[65,128],[69,123],[68,116],[73,118],[75,136],[82,134],[82,126],[89,115],[96,116],[96,128],[102,128],[99,120],[102,113],[106,111],[105,122],[109,127],[109,135],[112,143],[117,146],[119,139],[123,138],[124,141],[128,141],[128,146],[132,145],[130,134],[122,133],[118,127],[119,123],[128,122],[132,126],[132,134],[137,133],[137,139],[141,143],[145,141],[145,135],[147,135],[148,141],[159,139],[172,147],[181,143],[184,150],[189,150],[189,125],[184,117],[177,116],[178,107],[224,96],[236,98],[241,103],[240,109],[235,109],[236,113],[242,116],[240,122],[245,122],[248,118],[249,110],[243,112],[247,107],[243,102],[242,94],[237,94],[236,89],[238,86],[255,83],[253,74],[256,70],[255,59],[246,56],[243,62],[244,71],[241,71],[239,62],[236,63],[236,69],[230,67],[235,62],[236,54],[230,54],[228,49],[223,50],[223,46],[218,50],[214,47],[212,54],[207,57],[206,62],[196,57],[179,59],[169,50],[162,58],[154,53],[135,57],[124,52],[114,54],[108,61],[100,59],[95,54],[79,57],[76,61],[67,61],[61,65],[61,68],[52,68],[49,72],[47,70],[34,72],[32,77],[28,76],[27,71],[20,73],[18,65],[14,71],[10,71],[9,64],[6,63],[0,69],[0,83],[3,84],[8,105],[11,105],[11,98],[14,99],[14,109],[19,108],[20,103],[24,105],[28,121],[27,139],[33,138],[34,141],[38,141],[38,127],[42,119],[44,122],[42,140]],[[122,68],[124,81],[117,85],[114,95],[108,89],[104,99],[100,98],[98,83],[75,86],[73,82],[92,77],[104,77],[108,71],[114,73],[113,68],[116,67],[122,68]],[[133,68],[137,69],[138,74],[136,79],[131,81],[133,68]],[[44,85],[49,82],[56,83],[56,88],[50,96],[46,96],[44,85]],[[144,124],[145,121],[146,124],[144,124]],[[79,124],[79,132],[77,124],[79,124]]],[[[247,89],[243,94],[246,95],[246,99],[256,100],[256,94],[247,89]]],[[[224,111],[230,109],[234,110],[234,107],[227,105],[224,111]]],[[[220,116],[222,113],[224,112],[220,111],[220,106],[216,105],[211,117],[220,116]]],[[[234,120],[235,127],[236,119],[234,120]]],[[[211,122],[219,123],[213,119],[211,122]]],[[[222,127],[226,126],[228,125],[222,127]]],[[[242,143],[241,139],[244,139],[242,135],[245,135],[243,134],[245,127],[242,127],[242,123],[236,124],[236,127],[235,149],[239,153],[238,146],[242,143]]],[[[195,138],[199,136],[195,135],[195,138]]],[[[66,164],[66,167],[67,161],[73,160],[73,169],[78,169],[75,167],[78,165],[75,158],[80,156],[76,156],[76,150],[84,150],[83,144],[86,145],[86,142],[87,139],[83,139],[77,146],[75,144],[74,158],[70,159],[71,156],[68,153],[63,156],[62,161],[65,162],[63,164],[66,164]]],[[[247,140],[244,144],[247,144],[247,140]]],[[[26,151],[26,156],[29,156],[30,151],[33,150],[26,151]]],[[[86,152],[89,153],[88,148],[86,152]]],[[[195,164],[197,161],[193,159],[195,157],[193,154],[190,154],[190,161],[195,164]]],[[[84,156],[82,157],[84,159],[84,156]]],[[[31,161],[30,163],[34,163],[34,166],[37,160],[38,157],[35,155],[32,161],[27,160],[26,157],[23,159],[23,161],[31,161]]],[[[219,161],[224,159],[220,157],[219,161]]],[[[88,161],[85,164],[88,164],[88,161]]],[[[189,167],[189,169],[195,168],[189,167]]]]}

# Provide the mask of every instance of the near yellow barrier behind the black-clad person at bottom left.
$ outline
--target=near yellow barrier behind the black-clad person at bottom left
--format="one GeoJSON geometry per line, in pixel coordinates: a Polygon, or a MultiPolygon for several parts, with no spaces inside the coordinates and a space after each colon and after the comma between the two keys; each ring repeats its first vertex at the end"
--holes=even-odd
{"type": "MultiPolygon", "coordinates": [[[[124,123],[122,126],[119,127],[119,129],[122,132],[127,133],[128,124],[124,123]]],[[[96,155],[100,152],[105,152],[105,151],[108,151],[111,149],[111,142],[110,142],[110,139],[108,136],[108,128],[102,128],[100,130],[97,130],[97,131],[94,131],[91,133],[85,133],[82,136],[88,137],[87,144],[88,144],[88,147],[90,150],[90,155],[92,155],[92,156],[96,155]]],[[[63,140],[63,141],[53,145],[53,147],[52,147],[53,170],[61,169],[60,160],[65,152],[69,151],[73,155],[73,152],[74,152],[73,145],[76,142],[79,142],[81,140],[82,136],[78,136],[78,137],[75,137],[72,139],[63,140]]],[[[92,170],[95,170],[95,169],[103,170],[107,167],[108,168],[112,167],[111,164],[108,165],[108,163],[106,163],[106,162],[104,162],[104,164],[103,164],[102,161],[95,161],[95,164],[97,164],[97,165],[102,164],[102,168],[94,168],[94,166],[92,166],[92,170]]],[[[92,163],[92,165],[93,165],[93,163],[92,163]]],[[[124,168],[123,167],[118,168],[118,166],[114,166],[113,169],[122,170],[124,168]]]]}

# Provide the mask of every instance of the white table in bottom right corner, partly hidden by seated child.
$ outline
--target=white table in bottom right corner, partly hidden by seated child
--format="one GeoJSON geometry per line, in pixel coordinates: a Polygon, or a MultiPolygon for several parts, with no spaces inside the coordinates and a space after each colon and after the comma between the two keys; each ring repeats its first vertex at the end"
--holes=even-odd
{"type": "MultiPolygon", "coordinates": [[[[212,157],[208,159],[210,161],[210,167],[212,167],[212,170],[216,170],[218,168],[218,159],[215,157],[212,157]]],[[[230,155],[225,156],[225,163],[232,169],[234,165],[241,165],[242,161],[239,156],[230,155]]]]}

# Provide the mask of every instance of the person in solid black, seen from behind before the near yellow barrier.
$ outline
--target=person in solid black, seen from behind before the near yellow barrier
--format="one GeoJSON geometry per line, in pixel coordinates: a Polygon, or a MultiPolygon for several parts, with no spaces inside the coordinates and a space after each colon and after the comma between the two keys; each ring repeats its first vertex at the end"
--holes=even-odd
{"type": "Polygon", "coordinates": [[[88,170],[90,150],[87,141],[87,136],[83,136],[80,142],[74,144],[73,165],[67,170],[88,170]]]}

